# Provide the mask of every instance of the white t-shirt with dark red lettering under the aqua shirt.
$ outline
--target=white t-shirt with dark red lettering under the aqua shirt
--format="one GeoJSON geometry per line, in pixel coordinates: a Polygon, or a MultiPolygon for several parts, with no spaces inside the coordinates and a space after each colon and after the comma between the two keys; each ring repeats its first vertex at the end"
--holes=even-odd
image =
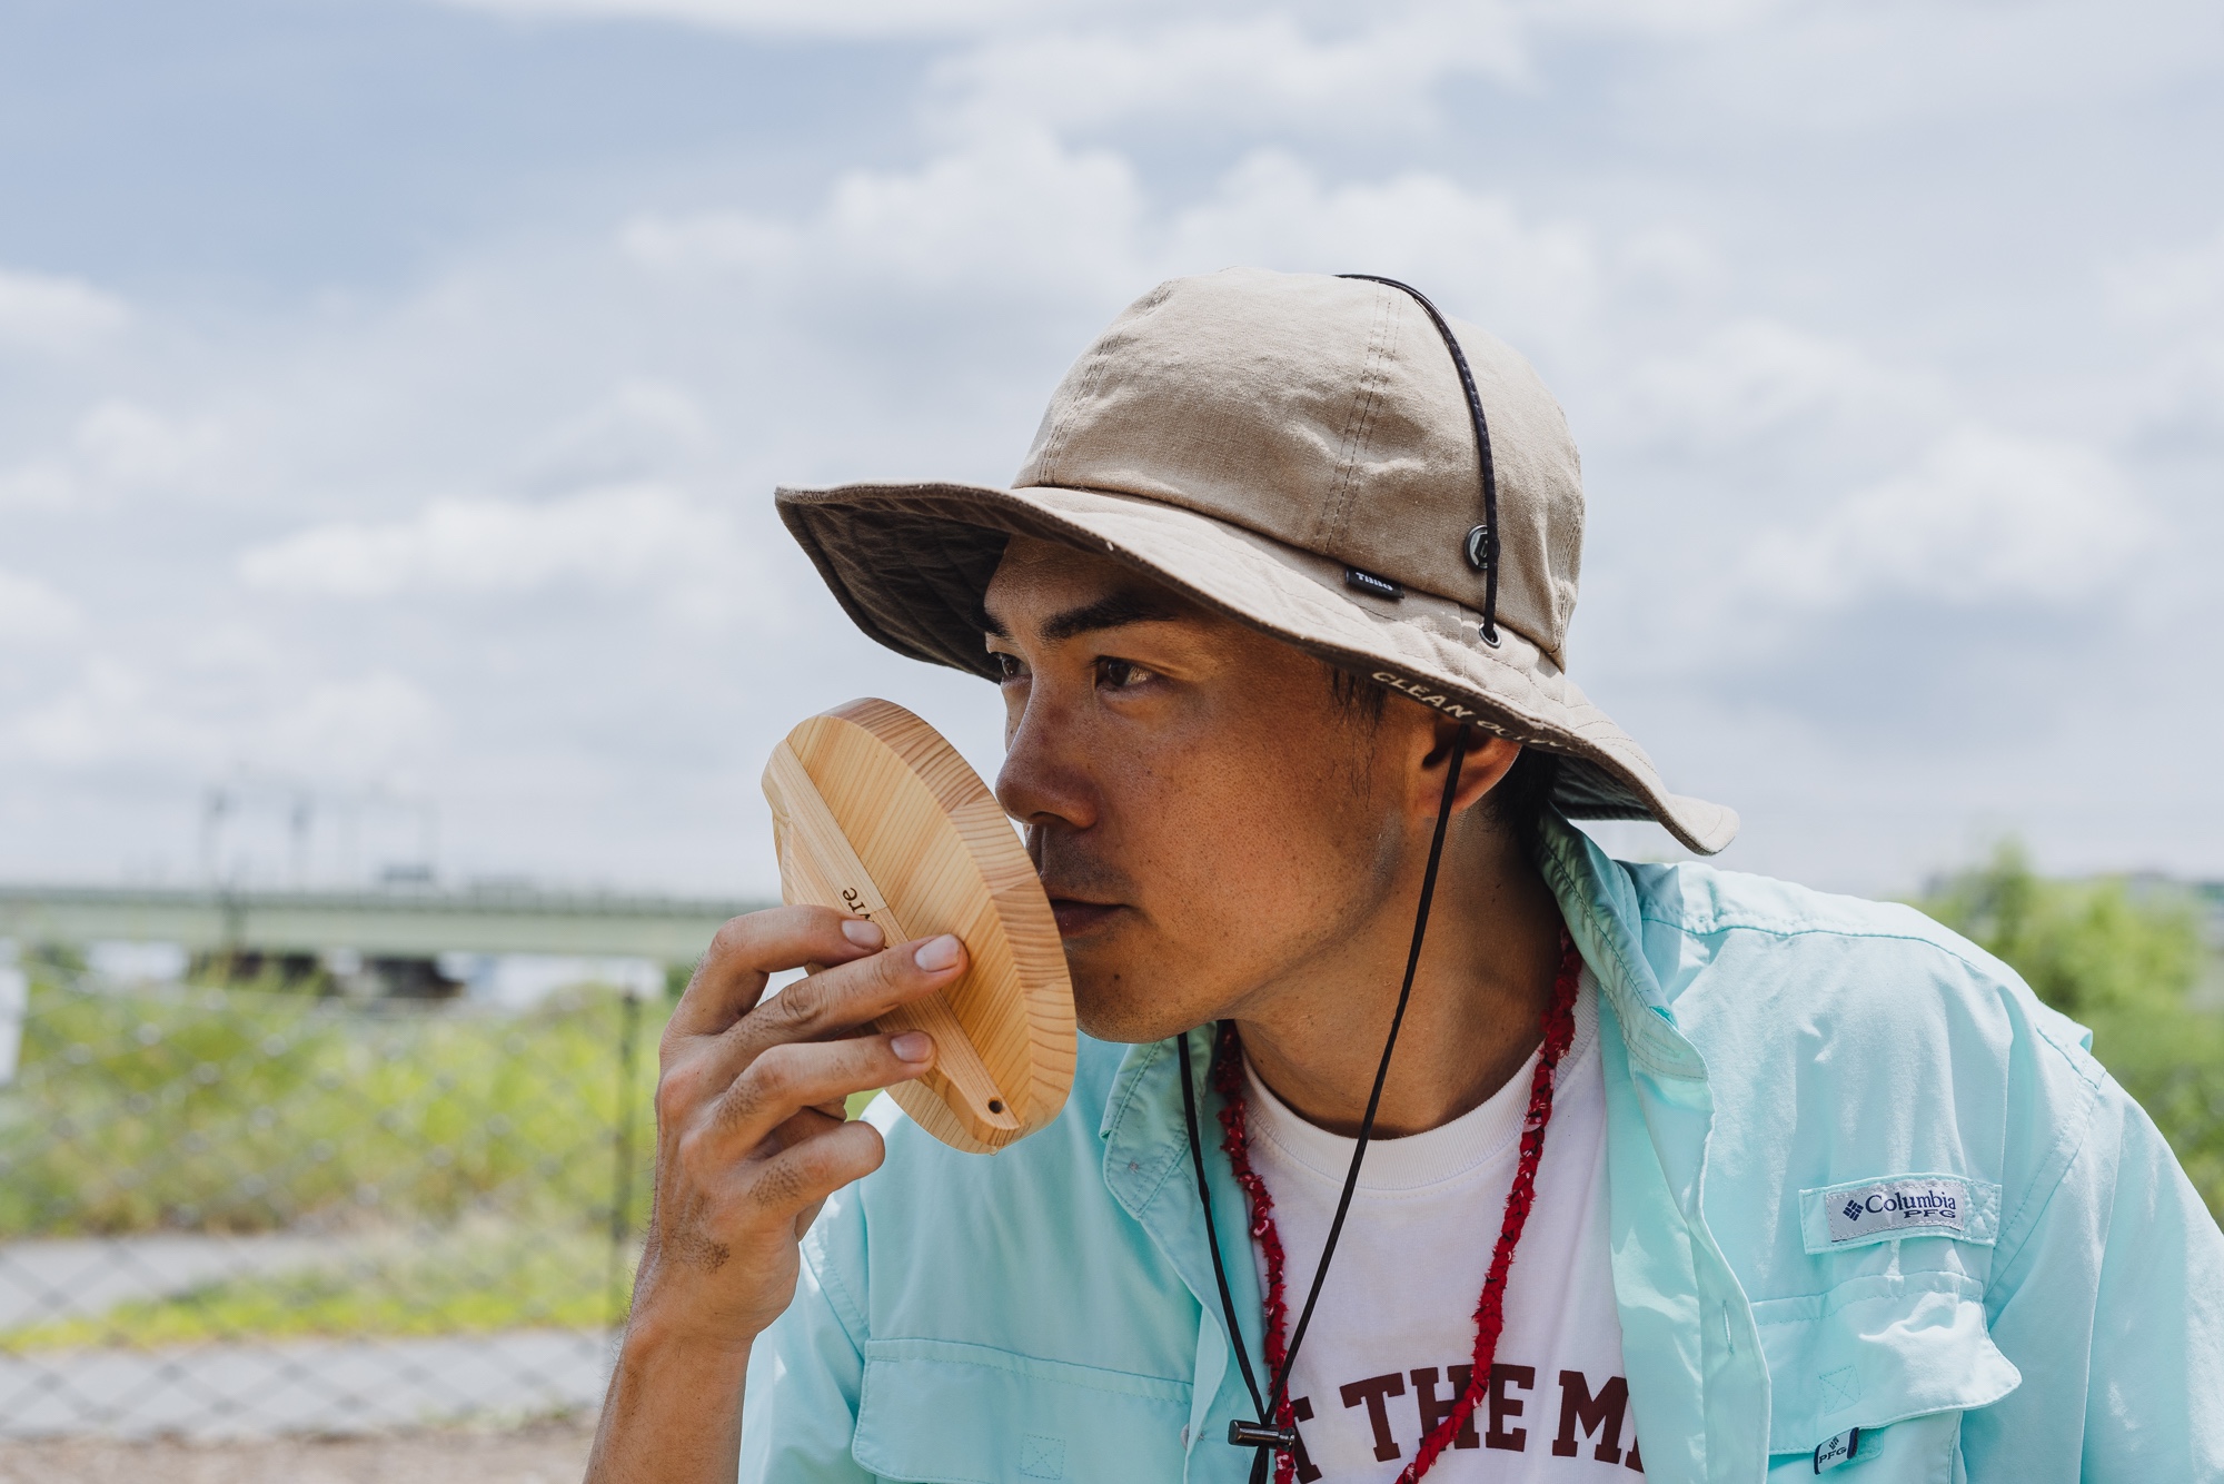
{"type": "MultiPolygon", "coordinates": [[[[1248,1070],[1248,1068],[1245,1068],[1248,1070]]],[[[1290,1397],[1299,1484],[1394,1480],[1470,1375],[1475,1304],[1506,1217],[1530,1057],[1481,1108],[1408,1139],[1372,1139],[1290,1397]]],[[[1290,1328],[1321,1259],[1352,1139],[1250,1081],[1250,1161],[1274,1197],[1290,1328]]],[[[1257,1244],[1254,1244],[1257,1253],[1257,1244]]],[[[1261,1293],[1265,1259],[1259,1257],[1261,1293]]],[[[1621,1368],[1606,1233],[1599,990],[1583,972],[1559,1063],[1537,1201],[1506,1282],[1492,1386],[1428,1480],[1628,1480],[1644,1473],[1621,1368]]]]}

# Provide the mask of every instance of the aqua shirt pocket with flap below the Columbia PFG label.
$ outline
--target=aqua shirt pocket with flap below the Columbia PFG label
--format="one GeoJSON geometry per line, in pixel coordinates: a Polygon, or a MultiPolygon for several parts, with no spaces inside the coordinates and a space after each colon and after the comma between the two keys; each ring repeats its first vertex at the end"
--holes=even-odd
{"type": "Polygon", "coordinates": [[[1993,1344],[1984,1286],[1964,1273],[1870,1273],[1759,1299],[1753,1322],[1768,1362],[1770,1455],[1813,1457],[1861,1428],[1859,1453],[1839,1466],[1853,1482],[1955,1477],[1959,1415],[2024,1379],[1993,1344]],[[1899,1466],[1870,1466],[1882,1460],[1899,1466]]]}

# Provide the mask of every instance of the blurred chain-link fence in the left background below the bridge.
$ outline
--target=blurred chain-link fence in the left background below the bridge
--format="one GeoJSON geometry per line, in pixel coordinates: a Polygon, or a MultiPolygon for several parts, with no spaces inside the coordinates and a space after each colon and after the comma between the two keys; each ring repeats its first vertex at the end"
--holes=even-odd
{"type": "MultiPolygon", "coordinates": [[[[11,972],[0,1440],[592,1406],[665,1003],[529,1010],[11,972]]],[[[0,1035],[9,1026],[0,1023],[0,1035]]]]}

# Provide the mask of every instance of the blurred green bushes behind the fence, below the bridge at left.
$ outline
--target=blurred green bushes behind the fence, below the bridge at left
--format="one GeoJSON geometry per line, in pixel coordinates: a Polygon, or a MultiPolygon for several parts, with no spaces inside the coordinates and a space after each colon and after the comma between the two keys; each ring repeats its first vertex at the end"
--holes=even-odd
{"type": "Polygon", "coordinates": [[[580,990],[525,1012],[251,990],[91,992],[38,975],[0,1090],[0,1237],[609,1224],[620,1095],[647,1199],[665,1006],[580,990]],[[634,1059],[618,1046],[634,1021],[634,1059]]]}

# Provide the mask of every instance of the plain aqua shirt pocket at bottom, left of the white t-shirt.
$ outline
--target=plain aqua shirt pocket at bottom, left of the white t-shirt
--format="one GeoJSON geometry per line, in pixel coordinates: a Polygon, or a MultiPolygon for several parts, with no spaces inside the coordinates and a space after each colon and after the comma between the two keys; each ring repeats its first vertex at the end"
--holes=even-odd
{"type": "Polygon", "coordinates": [[[1179,1480],[1190,1384],[950,1339],[867,1339],[850,1455],[907,1484],[1179,1480]]]}

